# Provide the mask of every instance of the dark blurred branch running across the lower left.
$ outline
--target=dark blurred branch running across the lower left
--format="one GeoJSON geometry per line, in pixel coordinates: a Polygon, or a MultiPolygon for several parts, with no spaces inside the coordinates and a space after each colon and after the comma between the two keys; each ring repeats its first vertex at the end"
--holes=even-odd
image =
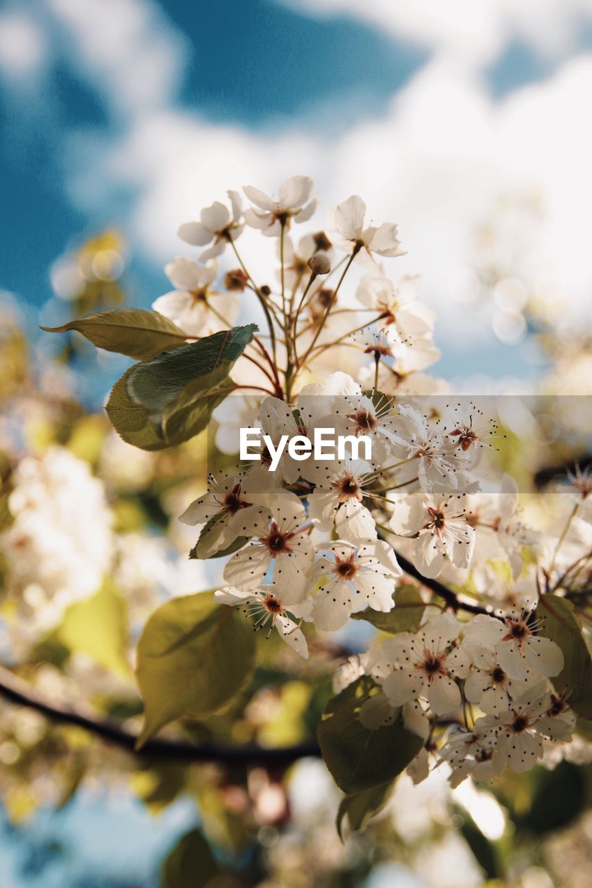
{"type": "Polygon", "coordinates": [[[308,741],[293,746],[264,749],[254,744],[244,746],[226,743],[207,742],[196,746],[182,740],[156,739],[148,740],[135,751],[138,735],[125,730],[116,722],[99,718],[91,710],[81,706],[69,706],[62,703],[48,703],[36,692],[36,689],[14,675],[10,670],[0,666],[0,695],[12,703],[28,706],[29,709],[41,712],[46,718],[65,725],[76,725],[92,733],[101,740],[113,743],[126,749],[132,755],[142,758],[174,759],[177,762],[220,762],[224,765],[291,765],[299,758],[318,757],[321,752],[316,741],[308,741]]]}

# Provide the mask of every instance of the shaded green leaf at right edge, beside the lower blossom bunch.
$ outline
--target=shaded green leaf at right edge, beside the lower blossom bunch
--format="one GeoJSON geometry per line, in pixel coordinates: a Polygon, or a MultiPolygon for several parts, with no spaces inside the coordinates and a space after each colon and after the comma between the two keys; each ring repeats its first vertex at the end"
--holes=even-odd
{"type": "Polygon", "coordinates": [[[555,641],[564,653],[564,669],[551,678],[556,692],[566,694],[572,710],[581,718],[592,718],[592,660],[572,602],[543,595],[536,615],[540,635],[555,641]]]}

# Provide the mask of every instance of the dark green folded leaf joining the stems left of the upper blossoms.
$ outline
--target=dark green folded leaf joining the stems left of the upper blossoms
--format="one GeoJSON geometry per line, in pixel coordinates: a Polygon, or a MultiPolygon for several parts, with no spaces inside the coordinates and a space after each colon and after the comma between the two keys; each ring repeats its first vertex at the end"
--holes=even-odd
{"type": "Polygon", "coordinates": [[[176,439],[187,432],[187,427],[196,434],[208,423],[216,406],[214,403],[208,408],[208,401],[213,397],[220,403],[220,394],[214,392],[228,385],[228,374],[252,342],[256,329],[255,324],[247,324],[220,330],[153,361],[136,364],[126,381],[130,399],[147,409],[162,437],[170,443],[179,443],[176,439]]]}

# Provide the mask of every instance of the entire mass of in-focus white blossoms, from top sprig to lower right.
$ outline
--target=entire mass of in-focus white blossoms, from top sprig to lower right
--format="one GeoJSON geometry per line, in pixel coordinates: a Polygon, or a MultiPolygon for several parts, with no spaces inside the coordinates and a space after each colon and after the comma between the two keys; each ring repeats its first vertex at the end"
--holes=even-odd
{"type": "Polygon", "coordinates": [[[268,331],[237,362],[234,395],[214,413],[222,451],[238,452],[241,425],[259,427],[274,447],[283,436],[329,426],[350,440],[371,440],[372,457],[300,461],[284,450],[270,472],[262,447],[254,466],[212,473],[208,492],[181,516],[198,527],[192,555],[227,555],[228,585],[216,599],[243,608],[255,629],[275,628],[303,657],[307,624],[340,630],[352,614],[372,622],[372,613],[393,611],[404,559],[430,594],[447,583],[442,604],[422,592],[428,619],[416,633],[372,645],[336,686],[371,676],[378,693],[364,705],[364,724],[379,729],[402,713],[425,740],[411,765],[415,780],[432,758],[448,762],[454,784],[469,773],[495,776],[506,765],[522,771],[550,743],[571,739],[575,723],[551,682],[564,655],[533,614],[541,594],[537,558],[546,565],[544,591],[564,594],[569,566],[590,557],[588,475],[575,473],[563,491],[574,504],[555,536],[525,525],[508,475],[484,489],[503,435],[494,416],[453,399],[423,372],[439,355],[434,315],[416,299],[417,278],[395,283],[382,265],[402,254],[396,225],[366,224],[364,202],[354,195],[333,211],[331,228],[294,243],[292,226],[316,210],[312,187],[309,178],[293,177],[277,198],[245,187],[252,209],[229,192],[232,213],[214,203],[201,222],[181,226],[185,241],[212,247],[199,261],[167,266],[179,291],[155,308],[203,336],[228,326],[240,311],[239,293],[260,302],[268,331]],[[245,226],[277,240],[275,289],[247,271],[236,247],[245,226]],[[212,258],[227,248],[238,266],[226,272],[220,294],[212,289],[212,258]],[[349,293],[346,278],[355,282],[349,293]],[[336,363],[341,369],[327,372],[336,363]],[[527,551],[534,557],[525,559],[527,551]],[[436,578],[439,586],[430,584],[436,578]],[[470,589],[482,606],[464,614],[451,586],[470,589]],[[435,607],[441,613],[433,616],[435,607]]]}

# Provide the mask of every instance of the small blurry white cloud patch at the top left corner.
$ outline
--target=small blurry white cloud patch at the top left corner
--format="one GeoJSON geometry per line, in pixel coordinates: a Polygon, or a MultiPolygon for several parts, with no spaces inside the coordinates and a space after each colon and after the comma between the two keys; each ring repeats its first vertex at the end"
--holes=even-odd
{"type": "Polygon", "coordinates": [[[26,13],[8,11],[0,15],[0,74],[12,82],[28,82],[44,66],[44,35],[26,13]]]}

